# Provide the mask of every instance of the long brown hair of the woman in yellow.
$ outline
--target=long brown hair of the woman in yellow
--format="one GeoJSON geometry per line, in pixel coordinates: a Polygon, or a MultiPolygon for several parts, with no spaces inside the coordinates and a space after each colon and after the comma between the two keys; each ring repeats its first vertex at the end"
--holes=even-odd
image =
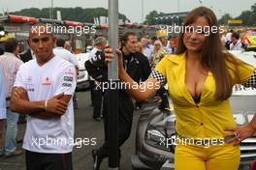
{"type": "MultiPolygon", "coordinates": [[[[206,7],[199,7],[191,11],[186,16],[183,26],[192,24],[199,16],[206,17],[208,20],[209,30],[212,26],[219,28],[215,14],[206,7]]],[[[182,54],[186,51],[186,46],[183,42],[183,35],[184,33],[180,33],[176,49],[177,54],[182,54]]],[[[221,43],[219,33],[212,33],[209,31],[208,39],[204,43],[199,57],[203,68],[213,73],[216,83],[215,99],[217,100],[228,99],[232,94],[234,84],[226,62],[228,61],[235,66],[238,64],[232,54],[224,51],[225,49],[221,43]]]]}

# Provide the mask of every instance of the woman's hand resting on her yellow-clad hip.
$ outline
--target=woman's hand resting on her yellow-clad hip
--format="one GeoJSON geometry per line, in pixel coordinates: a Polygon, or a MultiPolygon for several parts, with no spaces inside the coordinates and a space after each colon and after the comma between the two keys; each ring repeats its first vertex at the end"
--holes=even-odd
{"type": "MultiPolygon", "coordinates": [[[[228,139],[226,141],[226,143],[234,142],[234,146],[238,146],[238,145],[240,145],[241,141],[243,141],[244,139],[249,138],[250,136],[252,136],[256,129],[253,128],[253,126],[249,123],[249,124],[247,124],[243,127],[226,128],[224,130],[233,132],[232,138],[228,139]]],[[[228,138],[229,136],[231,136],[231,135],[225,135],[224,139],[228,138]]]]}

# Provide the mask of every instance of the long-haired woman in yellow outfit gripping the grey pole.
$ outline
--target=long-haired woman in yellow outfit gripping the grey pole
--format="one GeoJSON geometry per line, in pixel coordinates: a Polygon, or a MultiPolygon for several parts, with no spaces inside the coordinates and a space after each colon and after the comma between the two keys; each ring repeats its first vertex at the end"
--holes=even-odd
{"type": "MultiPolygon", "coordinates": [[[[221,43],[217,18],[206,7],[186,16],[176,54],[166,55],[139,88],[127,89],[137,100],[150,98],[168,84],[176,113],[176,170],[238,170],[240,147],[226,143],[225,128],[236,128],[229,98],[235,84],[255,87],[255,69],[234,57],[221,43]],[[180,140],[182,142],[180,142],[180,140]]],[[[123,69],[119,57],[119,79],[135,83],[123,69]]],[[[112,49],[106,49],[112,61],[112,49]]],[[[240,137],[235,137],[240,143],[240,137]]]]}

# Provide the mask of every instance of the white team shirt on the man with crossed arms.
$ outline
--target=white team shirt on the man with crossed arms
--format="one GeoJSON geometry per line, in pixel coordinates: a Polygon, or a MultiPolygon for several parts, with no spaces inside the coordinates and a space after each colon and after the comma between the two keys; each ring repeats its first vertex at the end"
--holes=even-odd
{"type": "MultiPolygon", "coordinates": [[[[58,94],[73,95],[76,88],[75,67],[54,56],[40,67],[36,59],[24,63],[16,74],[16,87],[23,87],[30,101],[50,99],[58,94]]],[[[70,99],[66,113],[48,120],[27,117],[23,149],[48,154],[65,154],[73,150],[74,109],[70,99]]]]}

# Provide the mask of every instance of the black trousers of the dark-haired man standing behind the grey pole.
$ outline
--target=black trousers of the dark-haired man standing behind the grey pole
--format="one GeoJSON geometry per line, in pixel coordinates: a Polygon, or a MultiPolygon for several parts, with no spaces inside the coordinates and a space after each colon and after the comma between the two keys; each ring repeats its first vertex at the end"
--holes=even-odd
{"type": "MultiPolygon", "coordinates": [[[[118,142],[119,147],[129,138],[132,123],[133,123],[133,102],[132,99],[126,93],[119,93],[119,124],[118,124],[118,142]]],[[[104,97],[104,107],[103,107],[103,116],[104,116],[104,131],[105,131],[105,143],[99,149],[99,155],[102,157],[109,156],[109,141],[108,141],[108,93],[104,97]]],[[[120,157],[120,150],[119,150],[120,157]]]]}

